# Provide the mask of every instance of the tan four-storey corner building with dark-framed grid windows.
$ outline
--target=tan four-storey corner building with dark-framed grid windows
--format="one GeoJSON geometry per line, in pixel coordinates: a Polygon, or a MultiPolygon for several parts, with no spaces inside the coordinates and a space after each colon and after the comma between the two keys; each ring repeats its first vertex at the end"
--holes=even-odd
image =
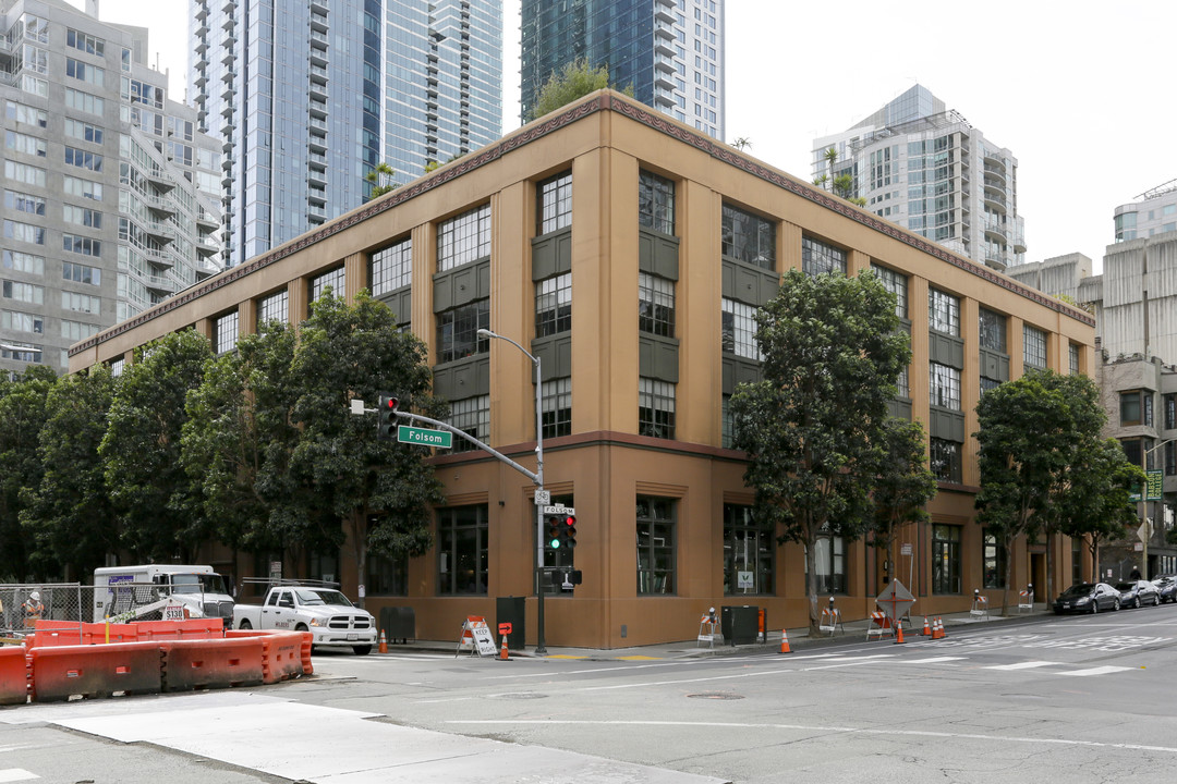
{"type": "MultiPolygon", "coordinates": [[[[820,543],[823,598],[863,617],[893,576],[917,615],[935,615],[967,610],[975,589],[999,601],[1003,577],[1015,596],[1044,587],[1046,542],[1019,543],[1006,564],[976,524],[975,408],[1026,367],[1086,373],[1092,319],[612,92],[77,344],[71,369],[129,362],[188,327],[232,350],[259,320],[305,319],[326,283],[367,288],[428,343],[453,424],[533,470],[532,363],[477,334],[488,328],[543,360],[545,484],[579,521],[576,549],[546,556],[584,577],[548,589],[546,642],[693,639],[700,615],[723,605],[764,608],[780,629],[805,624],[805,561],[751,515],[727,401],[758,377],[753,314],[793,267],[877,267],[897,293],[913,359],[895,413],[925,424],[940,478],[931,522],[899,535],[895,564],[863,542],[820,543]]],[[[467,615],[493,623],[498,597],[527,597],[533,643],[531,481],[480,451],[433,461],[448,496],[435,547],[371,559],[368,609],[411,607],[417,637],[455,639],[467,615]]],[[[1082,559],[1077,543],[1050,545],[1057,590],[1082,559]]],[[[350,551],[286,574],[339,576],[355,595],[350,551]]],[[[208,557],[227,558],[214,545],[208,557]]],[[[220,565],[257,574],[270,557],[220,565]]]]}

